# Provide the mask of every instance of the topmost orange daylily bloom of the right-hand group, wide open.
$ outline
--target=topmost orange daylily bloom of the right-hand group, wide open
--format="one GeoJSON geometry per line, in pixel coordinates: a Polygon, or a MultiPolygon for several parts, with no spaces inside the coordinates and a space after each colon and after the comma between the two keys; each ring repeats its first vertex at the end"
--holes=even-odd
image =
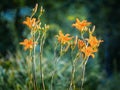
{"type": "Polygon", "coordinates": [[[91,22],[87,22],[87,20],[80,21],[78,18],[76,19],[76,23],[72,24],[73,27],[78,29],[79,31],[86,31],[86,27],[89,26],[91,22]]]}

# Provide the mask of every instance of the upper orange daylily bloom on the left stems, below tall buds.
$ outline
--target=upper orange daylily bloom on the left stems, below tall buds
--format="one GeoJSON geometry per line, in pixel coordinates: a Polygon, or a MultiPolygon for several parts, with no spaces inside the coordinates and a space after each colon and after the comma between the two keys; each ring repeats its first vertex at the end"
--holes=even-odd
{"type": "Polygon", "coordinates": [[[26,17],[26,20],[23,21],[23,24],[27,25],[30,29],[32,29],[36,25],[36,18],[26,17]]]}

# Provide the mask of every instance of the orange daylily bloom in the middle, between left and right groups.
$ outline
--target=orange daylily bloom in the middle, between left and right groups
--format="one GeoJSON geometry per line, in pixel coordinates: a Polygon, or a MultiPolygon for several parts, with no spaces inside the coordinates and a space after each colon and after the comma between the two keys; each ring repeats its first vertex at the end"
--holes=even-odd
{"type": "Polygon", "coordinates": [[[69,37],[69,36],[70,36],[70,34],[64,35],[62,33],[62,31],[59,31],[59,35],[57,35],[58,42],[60,42],[61,44],[68,43],[73,38],[73,37],[69,37]]]}

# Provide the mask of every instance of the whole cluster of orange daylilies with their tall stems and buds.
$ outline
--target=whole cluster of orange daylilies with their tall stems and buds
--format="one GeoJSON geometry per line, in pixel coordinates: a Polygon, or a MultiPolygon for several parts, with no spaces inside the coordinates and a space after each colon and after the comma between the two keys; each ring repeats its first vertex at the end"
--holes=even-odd
{"type": "MultiPolygon", "coordinates": [[[[42,81],[42,90],[45,90],[45,83],[44,83],[44,73],[42,69],[42,60],[43,60],[43,51],[44,51],[44,43],[46,40],[46,34],[49,29],[48,25],[41,26],[41,15],[44,12],[44,9],[41,7],[40,14],[38,18],[34,18],[34,15],[37,12],[38,4],[36,4],[35,8],[33,9],[33,13],[31,17],[26,17],[26,20],[23,21],[30,29],[30,38],[24,39],[23,42],[20,42],[21,45],[24,46],[24,50],[29,50],[30,55],[28,57],[28,66],[31,66],[28,70],[28,76],[31,77],[31,82],[29,86],[33,86],[34,90],[37,90],[37,78],[36,78],[36,47],[39,46],[39,62],[40,62],[40,78],[42,81]]],[[[71,36],[70,34],[63,34],[60,30],[59,34],[55,37],[57,38],[56,45],[54,51],[56,53],[56,49],[59,48],[59,57],[54,58],[55,67],[51,76],[51,90],[53,90],[53,83],[54,83],[54,76],[56,74],[56,67],[57,63],[59,62],[60,58],[67,53],[67,51],[72,53],[75,51],[75,57],[72,59],[72,70],[71,70],[71,80],[69,85],[69,90],[75,90],[75,72],[76,72],[76,63],[80,60],[82,68],[82,78],[81,78],[81,90],[83,89],[84,83],[84,76],[85,76],[85,67],[86,63],[90,56],[93,58],[95,57],[95,53],[98,51],[98,47],[103,40],[98,40],[96,36],[93,35],[95,31],[95,26],[93,26],[92,30],[90,29],[91,22],[87,20],[80,21],[78,18],[76,22],[72,24],[77,30],[79,30],[79,36],[71,36]]],[[[54,55],[56,57],[56,54],[54,55]]],[[[41,85],[40,85],[41,87],[41,85]]]]}

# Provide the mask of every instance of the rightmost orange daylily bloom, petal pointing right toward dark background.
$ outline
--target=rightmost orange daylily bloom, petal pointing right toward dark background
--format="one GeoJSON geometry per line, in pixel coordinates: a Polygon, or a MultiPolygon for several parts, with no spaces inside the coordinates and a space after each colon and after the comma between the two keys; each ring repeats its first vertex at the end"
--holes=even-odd
{"type": "Polygon", "coordinates": [[[90,36],[89,39],[87,39],[88,43],[90,44],[91,47],[96,48],[99,46],[103,40],[98,40],[95,36],[90,36]]]}

